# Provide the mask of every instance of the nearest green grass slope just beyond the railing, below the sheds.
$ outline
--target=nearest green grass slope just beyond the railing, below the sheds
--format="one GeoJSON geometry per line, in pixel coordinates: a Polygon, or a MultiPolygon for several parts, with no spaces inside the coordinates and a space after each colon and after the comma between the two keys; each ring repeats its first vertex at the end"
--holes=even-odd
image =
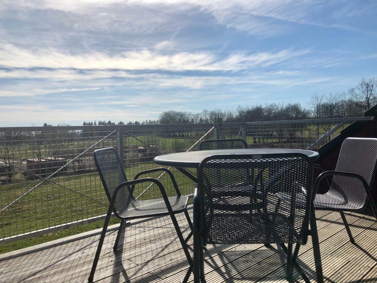
{"type": "MultiPolygon", "coordinates": [[[[136,172],[156,167],[157,165],[155,163],[146,162],[135,166],[127,166],[125,172],[129,179],[133,179],[136,172]]],[[[191,194],[195,184],[193,184],[189,178],[185,177],[179,171],[172,170],[172,172],[182,194],[191,194]]],[[[156,178],[160,174],[161,173],[153,173],[149,176],[156,178]]],[[[171,185],[168,175],[165,174],[160,180],[165,186],[167,194],[174,195],[175,190],[171,185]]],[[[74,176],[58,176],[56,178],[52,178],[52,181],[60,185],[64,185],[67,188],[70,188],[72,191],[46,181],[43,185],[34,189],[28,195],[6,209],[6,211],[2,212],[0,237],[5,238],[9,237],[9,235],[32,232],[38,229],[106,214],[108,201],[106,195],[104,194],[104,190],[101,187],[100,178],[97,172],[74,176]],[[90,198],[84,197],[83,195],[75,194],[75,192],[79,192],[96,200],[103,201],[104,205],[97,201],[91,200],[90,198]]],[[[39,182],[40,180],[35,180],[27,183],[0,186],[0,198],[2,203],[10,203],[39,182]]],[[[134,196],[137,197],[139,194],[141,194],[141,192],[143,192],[148,185],[149,183],[136,186],[134,196]]],[[[160,197],[161,193],[158,187],[152,186],[146,192],[144,192],[139,199],[143,200],[160,197]]],[[[95,224],[92,223],[82,225],[77,228],[70,228],[69,231],[71,232],[61,231],[52,233],[51,239],[56,237],[66,237],[69,233],[76,234],[84,230],[89,231],[90,229],[94,229],[93,225],[95,224]]],[[[98,226],[100,224],[96,225],[98,226]]],[[[14,249],[14,247],[17,245],[20,245],[20,248],[28,245],[35,245],[36,243],[39,243],[39,241],[48,240],[48,238],[49,237],[40,236],[29,240],[19,241],[20,243],[17,244],[12,243],[9,245],[0,245],[0,251],[2,251],[2,249],[3,252],[9,251],[10,249],[14,249]]]]}

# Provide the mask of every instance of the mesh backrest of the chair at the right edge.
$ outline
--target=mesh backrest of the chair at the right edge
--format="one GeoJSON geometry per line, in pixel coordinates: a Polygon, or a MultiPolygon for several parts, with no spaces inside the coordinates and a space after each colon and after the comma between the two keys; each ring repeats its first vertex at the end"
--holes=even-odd
{"type": "MultiPolygon", "coordinates": [[[[340,148],[335,171],[358,174],[373,185],[377,162],[377,138],[346,138],[340,148]]],[[[334,176],[330,190],[342,191],[349,201],[364,201],[366,192],[356,178],[334,176]]]]}

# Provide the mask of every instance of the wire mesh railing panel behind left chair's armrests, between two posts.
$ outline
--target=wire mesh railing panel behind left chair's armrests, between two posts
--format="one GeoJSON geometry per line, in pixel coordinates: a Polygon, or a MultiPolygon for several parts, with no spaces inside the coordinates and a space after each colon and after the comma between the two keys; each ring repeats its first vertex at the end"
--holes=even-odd
{"type": "MultiPolygon", "coordinates": [[[[174,152],[195,151],[199,149],[202,140],[213,138],[213,126],[165,126],[156,129],[130,128],[124,131],[124,163],[127,178],[133,178],[138,172],[161,167],[153,162],[153,158],[174,152]]],[[[195,189],[195,184],[175,168],[170,168],[178,188],[183,195],[190,195],[195,189]]],[[[191,170],[195,175],[195,170],[191,170]]],[[[143,177],[143,176],[141,176],[143,177]]],[[[154,172],[144,177],[159,178],[168,195],[175,194],[172,181],[168,174],[154,172]]],[[[153,186],[140,190],[135,188],[135,197],[151,199],[161,197],[158,188],[153,186]]]]}

